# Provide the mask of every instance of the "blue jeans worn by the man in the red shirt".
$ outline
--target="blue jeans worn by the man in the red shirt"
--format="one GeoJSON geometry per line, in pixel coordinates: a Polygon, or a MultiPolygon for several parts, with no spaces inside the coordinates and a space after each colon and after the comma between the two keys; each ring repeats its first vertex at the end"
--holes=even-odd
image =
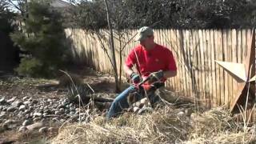
{"type": "MultiPolygon", "coordinates": [[[[122,91],[121,94],[118,95],[117,98],[114,99],[114,102],[112,102],[110,106],[110,110],[106,114],[106,118],[112,118],[115,116],[118,116],[122,113],[123,109],[129,108],[129,104],[127,102],[127,96],[136,91],[137,89],[134,86],[128,87],[126,90],[122,91]]],[[[145,94],[143,92],[141,94],[136,95],[136,100],[140,100],[145,97],[145,94]]],[[[154,91],[149,94],[150,103],[157,102],[159,98],[154,97],[154,91]]]]}

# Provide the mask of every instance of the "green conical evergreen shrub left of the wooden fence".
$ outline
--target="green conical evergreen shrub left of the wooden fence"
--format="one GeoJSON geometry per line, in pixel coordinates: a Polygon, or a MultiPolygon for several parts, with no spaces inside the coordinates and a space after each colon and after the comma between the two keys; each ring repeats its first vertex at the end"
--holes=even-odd
{"type": "Polygon", "coordinates": [[[69,58],[65,46],[62,17],[45,1],[29,2],[28,17],[22,31],[11,34],[13,41],[26,51],[29,58],[22,58],[16,69],[18,74],[32,77],[52,77],[69,58]]]}

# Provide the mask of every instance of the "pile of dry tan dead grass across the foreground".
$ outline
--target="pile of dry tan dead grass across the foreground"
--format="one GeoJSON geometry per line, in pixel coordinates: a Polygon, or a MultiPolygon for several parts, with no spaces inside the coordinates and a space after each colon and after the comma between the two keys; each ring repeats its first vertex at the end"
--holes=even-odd
{"type": "Polygon", "coordinates": [[[102,116],[59,130],[52,143],[253,143],[254,130],[242,131],[222,107],[194,113],[166,106],[152,114],[123,114],[110,121],[102,116]]]}

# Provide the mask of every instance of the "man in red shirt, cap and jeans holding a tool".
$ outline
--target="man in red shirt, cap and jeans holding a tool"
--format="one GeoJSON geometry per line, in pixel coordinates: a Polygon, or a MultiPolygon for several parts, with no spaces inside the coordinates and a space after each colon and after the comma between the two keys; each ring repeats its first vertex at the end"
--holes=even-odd
{"type": "Polygon", "coordinates": [[[118,116],[122,110],[127,109],[130,106],[127,97],[132,93],[135,96],[134,101],[148,97],[150,103],[154,105],[159,100],[154,95],[154,91],[158,87],[164,86],[166,78],[174,77],[177,74],[172,52],[154,42],[154,32],[150,27],[140,28],[135,40],[140,44],[130,51],[124,65],[124,70],[134,85],[128,87],[114,99],[106,115],[107,118],[118,116]],[[133,66],[136,66],[137,72],[132,70],[133,66]]]}

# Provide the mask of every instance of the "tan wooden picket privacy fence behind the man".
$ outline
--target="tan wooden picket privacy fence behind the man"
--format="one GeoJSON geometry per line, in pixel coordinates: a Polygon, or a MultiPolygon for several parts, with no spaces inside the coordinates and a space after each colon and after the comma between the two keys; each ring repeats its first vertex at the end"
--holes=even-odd
{"type": "MultiPolygon", "coordinates": [[[[138,44],[132,39],[136,31],[115,33],[118,70],[126,55],[138,44]],[[121,49],[122,54],[119,53],[121,49]]],[[[100,30],[99,34],[101,36],[85,30],[66,29],[76,61],[113,74],[110,60],[103,50],[104,47],[110,50],[110,35],[106,30],[100,30]]],[[[250,44],[251,30],[154,30],[154,37],[155,42],[170,48],[177,62],[178,75],[166,82],[167,88],[197,98],[207,108],[230,106],[238,83],[214,60],[242,62],[250,44]]]]}

